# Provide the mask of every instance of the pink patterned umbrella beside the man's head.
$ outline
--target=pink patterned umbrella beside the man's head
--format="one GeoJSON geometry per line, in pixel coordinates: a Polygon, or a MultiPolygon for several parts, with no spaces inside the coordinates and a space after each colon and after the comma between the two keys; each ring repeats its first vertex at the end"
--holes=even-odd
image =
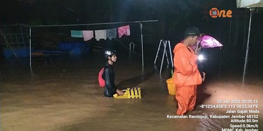
{"type": "Polygon", "coordinates": [[[209,35],[200,36],[197,38],[196,43],[201,44],[202,48],[214,48],[223,46],[220,42],[218,42],[215,38],[209,35]]]}

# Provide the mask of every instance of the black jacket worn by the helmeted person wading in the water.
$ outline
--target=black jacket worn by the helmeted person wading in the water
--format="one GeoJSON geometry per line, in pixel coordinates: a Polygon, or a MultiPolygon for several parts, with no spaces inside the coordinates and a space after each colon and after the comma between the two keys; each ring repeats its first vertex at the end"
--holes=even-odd
{"type": "Polygon", "coordinates": [[[102,74],[102,79],[105,80],[105,89],[104,95],[105,97],[113,97],[116,94],[116,85],[114,84],[115,81],[115,72],[113,66],[109,63],[104,66],[104,71],[102,74]]]}

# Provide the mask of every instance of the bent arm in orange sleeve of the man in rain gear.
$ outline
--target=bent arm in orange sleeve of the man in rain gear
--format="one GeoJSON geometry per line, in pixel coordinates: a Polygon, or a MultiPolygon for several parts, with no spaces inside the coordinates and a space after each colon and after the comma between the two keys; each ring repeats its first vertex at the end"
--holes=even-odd
{"type": "Polygon", "coordinates": [[[192,54],[189,58],[187,54],[189,50],[186,48],[178,49],[175,53],[174,63],[176,64],[176,68],[184,75],[190,75],[197,69],[197,55],[192,54]]]}

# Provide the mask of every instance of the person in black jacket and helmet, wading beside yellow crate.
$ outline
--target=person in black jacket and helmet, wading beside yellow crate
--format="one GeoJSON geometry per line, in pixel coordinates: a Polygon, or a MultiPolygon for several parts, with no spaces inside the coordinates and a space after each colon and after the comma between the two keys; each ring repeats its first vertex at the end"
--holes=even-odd
{"type": "Polygon", "coordinates": [[[104,57],[107,60],[102,74],[102,79],[105,81],[104,96],[113,97],[113,95],[116,93],[122,96],[124,93],[118,90],[116,85],[114,84],[115,72],[113,69],[113,63],[117,60],[116,51],[114,49],[105,49],[104,57]]]}

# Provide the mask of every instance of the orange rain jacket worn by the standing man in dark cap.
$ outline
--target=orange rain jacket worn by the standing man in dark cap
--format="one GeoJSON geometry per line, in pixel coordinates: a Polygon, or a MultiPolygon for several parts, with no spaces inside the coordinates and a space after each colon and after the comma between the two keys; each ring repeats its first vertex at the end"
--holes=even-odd
{"type": "Polygon", "coordinates": [[[173,82],[176,86],[198,85],[202,83],[201,74],[197,68],[197,55],[183,43],[178,43],[174,49],[173,82]]]}

